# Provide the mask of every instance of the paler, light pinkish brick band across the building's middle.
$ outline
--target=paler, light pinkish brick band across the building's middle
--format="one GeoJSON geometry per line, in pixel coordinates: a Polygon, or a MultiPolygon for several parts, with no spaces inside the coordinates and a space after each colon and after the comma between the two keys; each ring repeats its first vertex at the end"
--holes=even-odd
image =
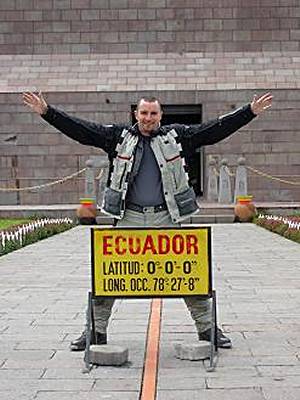
{"type": "Polygon", "coordinates": [[[0,55],[0,92],[300,88],[300,52],[0,55]]]}

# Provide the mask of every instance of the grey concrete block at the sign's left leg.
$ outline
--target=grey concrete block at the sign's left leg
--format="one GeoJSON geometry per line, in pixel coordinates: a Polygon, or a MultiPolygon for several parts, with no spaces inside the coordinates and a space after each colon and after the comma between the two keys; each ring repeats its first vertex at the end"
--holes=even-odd
{"type": "Polygon", "coordinates": [[[128,361],[128,349],[115,345],[92,345],[90,360],[98,365],[123,365],[128,361]]]}

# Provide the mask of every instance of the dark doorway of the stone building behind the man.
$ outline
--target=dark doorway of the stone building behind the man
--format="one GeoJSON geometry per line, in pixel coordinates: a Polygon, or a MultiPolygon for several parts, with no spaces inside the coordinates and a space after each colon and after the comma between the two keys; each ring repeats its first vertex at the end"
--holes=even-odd
{"type": "MultiPolygon", "coordinates": [[[[136,122],[133,111],[135,105],[131,106],[132,123],[136,122]]],[[[202,107],[201,105],[162,105],[163,117],[162,125],[170,124],[201,124],[202,107]]],[[[191,184],[197,196],[203,196],[204,192],[204,152],[202,149],[195,149],[195,153],[190,157],[190,164],[194,167],[189,172],[191,184]]]]}

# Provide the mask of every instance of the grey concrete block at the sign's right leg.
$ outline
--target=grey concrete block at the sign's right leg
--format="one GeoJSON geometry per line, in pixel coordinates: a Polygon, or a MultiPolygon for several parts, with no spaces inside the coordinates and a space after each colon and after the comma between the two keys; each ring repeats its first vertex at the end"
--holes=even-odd
{"type": "Polygon", "coordinates": [[[180,360],[205,360],[210,356],[210,342],[204,340],[194,343],[175,343],[175,355],[180,360]]]}

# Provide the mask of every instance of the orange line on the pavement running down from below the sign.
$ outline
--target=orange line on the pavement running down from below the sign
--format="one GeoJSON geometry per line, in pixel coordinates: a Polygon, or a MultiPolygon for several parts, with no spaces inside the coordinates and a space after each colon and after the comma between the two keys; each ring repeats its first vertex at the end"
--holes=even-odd
{"type": "Polygon", "coordinates": [[[148,325],[147,347],[140,400],[155,400],[156,398],[161,310],[162,300],[153,299],[148,325]]]}

